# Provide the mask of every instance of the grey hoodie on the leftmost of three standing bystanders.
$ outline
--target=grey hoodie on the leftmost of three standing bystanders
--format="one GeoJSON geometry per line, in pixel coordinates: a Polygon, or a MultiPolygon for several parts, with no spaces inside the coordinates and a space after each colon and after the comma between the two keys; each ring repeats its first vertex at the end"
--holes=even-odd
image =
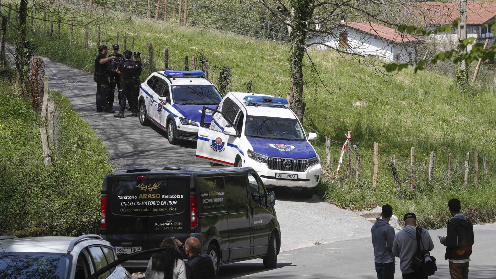
{"type": "Polygon", "coordinates": [[[371,232],[374,261],[379,264],[394,263],[394,228],[389,222],[377,218],[371,232]]]}

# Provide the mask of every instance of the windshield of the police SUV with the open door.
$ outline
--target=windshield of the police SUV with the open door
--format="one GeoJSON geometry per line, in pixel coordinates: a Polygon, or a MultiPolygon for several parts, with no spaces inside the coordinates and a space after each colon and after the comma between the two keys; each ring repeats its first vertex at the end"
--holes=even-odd
{"type": "Polygon", "coordinates": [[[247,117],[246,136],[304,141],[305,135],[297,119],[250,116],[247,117]]]}

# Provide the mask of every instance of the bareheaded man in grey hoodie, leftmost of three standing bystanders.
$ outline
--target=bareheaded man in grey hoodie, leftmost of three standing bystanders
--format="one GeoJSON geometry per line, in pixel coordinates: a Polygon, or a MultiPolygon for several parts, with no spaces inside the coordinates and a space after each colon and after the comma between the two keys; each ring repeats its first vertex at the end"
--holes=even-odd
{"type": "Polygon", "coordinates": [[[372,245],[377,279],[394,278],[393,241],[394,228],[389,225],[393,215],[393,208],[385,204],[382,206],[382,219],[377,218],[372,225],[372,245]]]}

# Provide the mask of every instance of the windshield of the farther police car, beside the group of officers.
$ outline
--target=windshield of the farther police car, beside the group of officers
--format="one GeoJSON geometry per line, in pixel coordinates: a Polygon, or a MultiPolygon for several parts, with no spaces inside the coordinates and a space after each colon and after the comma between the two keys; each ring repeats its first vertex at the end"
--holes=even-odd
{"type": "Polygon", "coordinates": [[[219,105],[222,96],[213,85],[173,85],[172,98],[178,105],[219,105]]]}

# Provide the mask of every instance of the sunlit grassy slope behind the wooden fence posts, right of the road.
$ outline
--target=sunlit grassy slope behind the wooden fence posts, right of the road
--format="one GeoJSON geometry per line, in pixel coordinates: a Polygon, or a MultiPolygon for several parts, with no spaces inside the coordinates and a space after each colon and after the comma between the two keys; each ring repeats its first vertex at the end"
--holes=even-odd
{"type": "MultiPolygon", "coordinates": [[[[96,52],[84,51],[81,31],[82,28],[75,28],[77,42],[73,47],[67,47],[67,29],[62,29],[61,42],[44,35],[31,36],[38,53],[80,69],[91,70],[96,52]]],[[[156,61],[154,70],[163,68],[163,62],[159,61],[163,61],[162,51],[168,47],[173,69],[184,69],[184,56],[207,56],[214,83],[217,83],[221,67],[231,67],[232,91],[246,91],[249,80],[253,82],[253,92],[285,97],[289,88],[289,46],[285,44],[134,18],[130,23],[115,19],[112,25],[102,26],[102,42],[112,45],[117,31],[120,31],[121,44],[124,35],[128,36],[127,46],[130,46],[130,38],[134,36],[134,50],[140,51],[145,61],[148,43],[153,43],[156,61]]],[[[93,49],[96,48],[95,38],[96,34],[92,33],[90,45],[93,44],[93,49]]],[[[447,218],[444,206],[446,199],[457,196],[462,197],[464,204],[479,209],[474,212],[480,213],[480,210],[487,209],[487,214],[478,214],[477,221],[486,222],[495,218],[494,182],[478,186],[477,189],[474,189],[472,183],[468,187],[461,186],[465,153],[474,148],[479,148],[481,173],[482,157],[486,155],[492,170],[490,181],[495,174],[496,116],[493,112],[496,101],[492,91],[470,87],[468,92],[460,93],[453,79],[432,71],[413,74],[411,70],[405,70],[392,77],[384,77],[377,75],[374,69],[356,61],[347,61],[330,51],[311,49],[309,54],[332,95],[326,92],[317,76],[310,71],[309,61],[306,61],[305,74],[309,81],[305,85],[306,126],[331,138],[331,171],[337,165],[341,148],[338,142],[344,141],[346,131],[353,131],[354,144],[358,144],[362,154],[361,182],[346,183],[346,179],[341,179],[328,185],[330,201],[353,209],[367,209],[390,202],[394,204],[397,215],[412,210],[433,214],[434,217],[426,216],[421,222],[437,227],[441,224],[439,222],[447,218]],[[367,101],[368,105],[352,106],[359,100],[367,101]],[[375,190],[370,189],[373,141],[379,143],[380,155],[378,188],[375,190]],[[406,190],[410,182],[408,164],[412,146],[416,148],[418,163],[417,191],[414,193],[406,190]],[[427,158],[431,150],[437,152],[434,182],[427,181],[427,158]],[[452,183],[444,182],[448,153],[452,153],[453,157],[452,183]],[[389,155],[396,155],[399,165],[403,187],[399,194],[395,193],[390,177],[389,155]]],[[[147,75],[148,72],[144,71],[143,77],[147,75]]],[[[322,153],[325,148],[318,143],[314,144],[321,158],[325,158],[322,153]]],[[[344,177],[342,174],[340,178],[344,177]]]]}

